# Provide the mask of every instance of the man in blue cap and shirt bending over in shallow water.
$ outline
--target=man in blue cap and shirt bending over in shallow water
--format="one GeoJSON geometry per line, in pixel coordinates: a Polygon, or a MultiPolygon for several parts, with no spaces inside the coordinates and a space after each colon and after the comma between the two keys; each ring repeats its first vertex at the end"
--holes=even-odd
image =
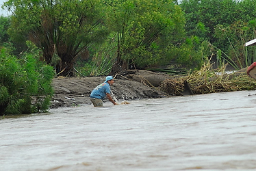
{"type": "Polygon", "coordinates": [[[106,80],[101,83],[99,86],[94,88],[90,94],[90,101],[94,107],[103,106],[103,99],[107,96],[108,100],[111,101],[114,105],[117,103],[113,100],[112,96],[110,96],[110,86],[114,84],[114,78],[112,76],[107,76],[106,80]]]}

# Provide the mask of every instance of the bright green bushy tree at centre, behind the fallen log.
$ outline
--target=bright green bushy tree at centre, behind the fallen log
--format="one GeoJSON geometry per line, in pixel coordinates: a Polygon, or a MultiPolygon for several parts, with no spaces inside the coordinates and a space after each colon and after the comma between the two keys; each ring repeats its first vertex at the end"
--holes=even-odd
{"type": "Polygon", "coordinates": [[[170,54],[184,41],[185,19],[178,5],[168,0],[105,1],[107,26],[116,32],[117,55],[112,73],[120,66],[153,66],[170,62],[170,54]]]}

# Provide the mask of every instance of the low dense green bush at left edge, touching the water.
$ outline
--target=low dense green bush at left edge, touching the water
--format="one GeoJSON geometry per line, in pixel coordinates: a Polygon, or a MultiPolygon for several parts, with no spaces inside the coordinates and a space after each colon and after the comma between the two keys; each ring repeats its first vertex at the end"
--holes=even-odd
{"type": "Polygon", "coordinates": [[[53,95],[51,66],[25,53],[22,59],[0,52],[0,114],[29,114],[46,111],[53,95]]]}

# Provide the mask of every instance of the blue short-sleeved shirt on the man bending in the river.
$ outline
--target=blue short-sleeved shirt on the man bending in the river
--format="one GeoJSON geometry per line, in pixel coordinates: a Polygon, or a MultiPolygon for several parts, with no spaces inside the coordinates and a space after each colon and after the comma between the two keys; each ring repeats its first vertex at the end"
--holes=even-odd
{"type": "Polygon", "coordinates": [[[110,94],[110,84],[109,83],[101,83],[99,86],[94,88],[92,90],[90,97],[91,98],[99,98],[99,99],[104,99],[106,96],[106,93],[110,94]]]}

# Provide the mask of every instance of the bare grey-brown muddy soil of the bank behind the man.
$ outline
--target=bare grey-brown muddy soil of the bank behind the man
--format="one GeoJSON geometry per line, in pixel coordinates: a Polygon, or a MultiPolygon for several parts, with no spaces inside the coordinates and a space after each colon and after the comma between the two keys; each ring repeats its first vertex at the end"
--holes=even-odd
{"type": "MultiPolygon", "coordinates": [[[[168,77],[170,76],[147,70],[129,70],[126,75],[116,75],[111,90],[118,101],[166,97],[167,95],[157,87],[168,77]]],[[[91,104],[90,92],[103,81],[105,77],[53,79],[55,94],[51,108],[91,104]]]]}

